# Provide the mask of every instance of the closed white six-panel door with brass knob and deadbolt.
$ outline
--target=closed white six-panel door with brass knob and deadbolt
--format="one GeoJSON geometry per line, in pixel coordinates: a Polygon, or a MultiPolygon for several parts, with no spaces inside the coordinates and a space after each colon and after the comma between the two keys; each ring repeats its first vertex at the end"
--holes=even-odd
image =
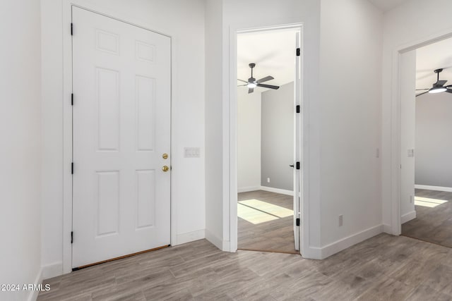
{"type": "Polygon", "coordinates": [[[165,35],[82,8],[72,18],[78,267],[169,245],[171,49],[165,35]]]}

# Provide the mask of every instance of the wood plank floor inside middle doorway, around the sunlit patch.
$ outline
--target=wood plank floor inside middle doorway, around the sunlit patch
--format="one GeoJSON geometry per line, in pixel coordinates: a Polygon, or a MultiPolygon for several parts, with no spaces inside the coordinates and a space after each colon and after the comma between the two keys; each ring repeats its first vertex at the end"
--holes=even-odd
{"type": "MultiPolygon", "coordinates": [[[[238,201],[259,199],[293,210],[293,197],[263,190],[241,192],[238,201]]],[[[267,252],[283,252],[299,254],[295,250],[293,215],[253,224],[244,219],[238,221],[238,247],[242,250],[258,250],[267,252]]]]}

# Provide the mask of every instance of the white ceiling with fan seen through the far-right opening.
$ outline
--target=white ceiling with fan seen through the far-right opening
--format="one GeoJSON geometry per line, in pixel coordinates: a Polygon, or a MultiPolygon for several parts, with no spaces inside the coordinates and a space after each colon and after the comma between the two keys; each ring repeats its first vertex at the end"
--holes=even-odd
{"type": "Polygon", "coordinates": [[[421,47],[416,51],[416,89],[431,88],[436,82],[435,69],[443,68],[440,80],[452,85],[452,38],[421,47]]]}

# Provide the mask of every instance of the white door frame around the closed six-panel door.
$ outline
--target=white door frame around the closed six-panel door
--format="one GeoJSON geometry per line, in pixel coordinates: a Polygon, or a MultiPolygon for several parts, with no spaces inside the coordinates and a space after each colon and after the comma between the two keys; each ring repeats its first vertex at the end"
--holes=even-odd
{"type": "MultiPolygon", "coordinates": [[[[119,20],[130,25],[141,27],[145,30],[156,32],[160,35],[165,35],[171,40],[171,94],[174,95],[174,37],[166,33],[162,33],[168,30],[154,30],[150,29],[155,25],[143,24],[138,20],[133,20],[130,16],[124,15],[121,11],[109,11],[105,7],[98,7],[93,5],[89,0],[64,0],[63,3],[63,95],[61,97],[63,102],[63,274],[70,273],[72,271],[72,246],[71,246],[71,231],[72,231],[72,175],[71,175],[71,162],[72,162],[72,106],[71,106],[71,93],[72,93],[72,37],[71,37],[71,22],[72,22],[72,6],[98,13],[102,16],[107,16],[115,20],[119,20]],[[160,30],[160,31],[159,31],[160,30]]],[[[76,35],[76,25],[74,25],[74,35],[76,35]]],[[[173,97],[171,96],[171,102],[173,97]]],[[[174,128],[174,106],[171,106],[171,128],[174,128]]],[[[172,158],[173,147],[175,142],[173,132],[171,134],[171,147],[170,156],[172,158]]],[[[172,159],[172,165],[174,160],[172,159]]],[[[171,175],[171,193],[174,193],[173,175],[171,175]]],[[[176,242],[176,233],[174,229],[177,228],[175,217],[175,205],[170,197],[171,207],[171,244],[176,242]]],[[[75,238],[76,239],[76,235],[75,238]]]]}

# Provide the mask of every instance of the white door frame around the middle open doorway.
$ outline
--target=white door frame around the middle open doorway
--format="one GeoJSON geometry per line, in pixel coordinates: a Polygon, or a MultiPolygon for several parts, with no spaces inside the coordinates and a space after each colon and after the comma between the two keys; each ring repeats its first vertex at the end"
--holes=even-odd
{"type": "MultiPolygon", "coordinates": [[[[268,27],[230,27],[230,66],[229,66],[229,84],[230,84],[230,104],[229,106],[223,105],[223,109],[228,113],[227,121],[229,125],[226,127],[229,130],[229,135],[225,135],[223,137],[223,142],[225,145],[228,145],[227,151],[229,152],[229,161],[223,162],[223,168],[225,168],[226,173],[225,179],[223,180],[224,188],[225,188],[225,198],[229,199],[229,207],[224,207],[224,210],[229,211],[230,221],[229,221],[229,234],[230,234],[230,245],[229,248],[223,247],[223,250],[229,249],[230,252],[237,251],[237,34],[243,32],[258,32],[258,31],[268,31],[268,30],[281,30],[281,29],[295,29],[300,32],[300,44],[301,44],[301,55],[300,55],[300,73],[301,76],[297,80],[295,79],[295,87],[299,88],[299,99],[296,99],[296,103],[299,104],[302,108],[301,110],[301,120],[299,133],[302,134],[300,139],[301,145],[299,145],[299,154],[297,154],[298,158],[301,158],[300,162],[302,164],[302,168],[300,169],[300,182],[299,187],[302,191],[300,197],[299,208],[302,211],[302,216],[300,216],[300,246],[299,250],[303,254],[304,247],[309,247],[308,245],[303,244],[303,239],[307,239],[305,235],[307,235],[306,229],[309,225],[309,220],[307,219],[307,210],[304,207],[304,187],[307,186],[307,168],[304,168],[304,158],[306,158],[307,145],[304,143],[306,141],[306,137],[304,137],[303,132],[303,121],[306,119],[305,110],[303,110],[303,94],[302,93],[302,82],[303,82],[303,57],[304,57],[304,39],[303,39],[303,23],[293,23],[287,25],[274,25],[268,27]],[[302,156],[302,154],[304,156],[302,156]],[[303,180],[302,180],[303,179],[303,180]]],[[[295,56],[295,49],[294,49],[295,56]]],[[[296,88],[296,89],[297,89],[296,88]]],[[[295,108],[294,108],[295,109],[295,108]]],[[[295,189],[295,188],[294,188],[295,189]]],[[[308,240],[307,240],[308,241],[308,240]]]]}

